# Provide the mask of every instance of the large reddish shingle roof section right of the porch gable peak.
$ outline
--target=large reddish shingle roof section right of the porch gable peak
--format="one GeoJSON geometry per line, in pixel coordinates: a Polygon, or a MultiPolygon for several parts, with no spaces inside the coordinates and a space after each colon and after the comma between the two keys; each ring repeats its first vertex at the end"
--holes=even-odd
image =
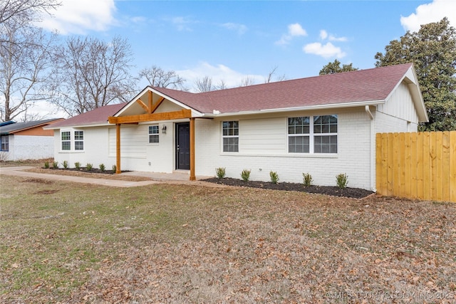
{"type": "Polygon", "coordinates": [[[334,105],[385,100],[411,66],[391,65],[206,93],[153,89],[202,113],[334,105]]]}

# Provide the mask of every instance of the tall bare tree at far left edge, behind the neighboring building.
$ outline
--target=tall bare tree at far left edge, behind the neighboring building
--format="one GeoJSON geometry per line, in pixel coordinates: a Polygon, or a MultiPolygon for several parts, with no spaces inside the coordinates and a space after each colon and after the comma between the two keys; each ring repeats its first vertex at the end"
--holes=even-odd
{"type": "Polygon", "coordinates": [[[0,119],[8,121],[48,98],[46,84],[56,36],[12,19],[3,28],[0,39],[9,42],[0,46],[0,100],[4,103],[0,119]]]}

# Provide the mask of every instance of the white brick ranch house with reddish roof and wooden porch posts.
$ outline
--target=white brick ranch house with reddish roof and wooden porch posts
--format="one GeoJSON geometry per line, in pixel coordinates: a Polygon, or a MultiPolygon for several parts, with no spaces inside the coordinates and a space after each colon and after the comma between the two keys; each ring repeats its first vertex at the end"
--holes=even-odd
{"type": "Polygon", "coordinates": [[[412,64],[321,75],[207,93],[147,87],[46,127],[59,163],[118,170],[375,188],[375,133],[413,132],[427,114],[412,64]]]}

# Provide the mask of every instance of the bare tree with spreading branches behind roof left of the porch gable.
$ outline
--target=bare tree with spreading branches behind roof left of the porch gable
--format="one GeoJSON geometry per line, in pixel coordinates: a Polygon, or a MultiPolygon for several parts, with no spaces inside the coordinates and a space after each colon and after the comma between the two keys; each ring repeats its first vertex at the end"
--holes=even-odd
{"type": "Polygon", "coordinates": [[[109,43],[97,38],[68,38],[56,52],[53,98],[68,115],[130,100],[136,90],[129,68],[130,44],[116,36],[109,43]]]}

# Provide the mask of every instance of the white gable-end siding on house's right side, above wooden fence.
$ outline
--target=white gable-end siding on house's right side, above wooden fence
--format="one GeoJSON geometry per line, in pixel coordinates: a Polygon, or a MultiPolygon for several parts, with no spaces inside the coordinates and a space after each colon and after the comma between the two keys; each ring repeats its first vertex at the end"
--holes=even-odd
{"type": "Polygon", "coordinates": [[[377,106],[375,132],[416,132],[418,115],[408,85],[400,83],[383,105],[377,106]]]}

